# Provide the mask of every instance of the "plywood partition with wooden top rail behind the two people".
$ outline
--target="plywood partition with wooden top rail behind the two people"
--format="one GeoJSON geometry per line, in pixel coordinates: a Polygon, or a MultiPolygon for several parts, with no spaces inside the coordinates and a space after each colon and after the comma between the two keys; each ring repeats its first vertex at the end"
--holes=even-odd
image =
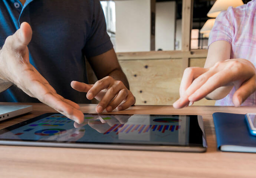
{"type": "MultiPolygon", "coordinates": [[[[189,53],[169,51],[118,53],[117,55],[137,105],[172,105],[180,96],[180,82],[186,68],[184,57],[189,59],[190,67],[203,67],[207,50],[189,53]]],[[[89,63],[86,65],[89,82],[96,82],[89,63]]],[[[202,99],[194,105],[214,105],[214,103],[213,100],[202,99]]]]}

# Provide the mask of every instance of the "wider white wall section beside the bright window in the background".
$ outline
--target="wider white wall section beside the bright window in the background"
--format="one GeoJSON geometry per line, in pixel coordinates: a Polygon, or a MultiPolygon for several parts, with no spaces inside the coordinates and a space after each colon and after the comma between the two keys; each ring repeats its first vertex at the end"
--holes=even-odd
{"type": "Polygon", "coordinates": [[[150,51],[150,0],[115,1],[116,52],[150,51]]]}

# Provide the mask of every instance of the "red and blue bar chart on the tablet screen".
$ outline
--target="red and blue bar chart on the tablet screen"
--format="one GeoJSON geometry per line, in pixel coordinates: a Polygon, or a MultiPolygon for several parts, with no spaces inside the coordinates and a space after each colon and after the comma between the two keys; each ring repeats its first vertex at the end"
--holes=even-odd
{"type": "Polygon", "coordinates": [[[118,133],[129,133],[129,132],[138,132],[138,133],[145,133],[150,131],[162,132],[170,131],[174,132],[180,129],[180,125],[140,125],[140,124],[115,124],[111,128],[109,128],[104,134],[108,134],[110,132],[118,133]]]}

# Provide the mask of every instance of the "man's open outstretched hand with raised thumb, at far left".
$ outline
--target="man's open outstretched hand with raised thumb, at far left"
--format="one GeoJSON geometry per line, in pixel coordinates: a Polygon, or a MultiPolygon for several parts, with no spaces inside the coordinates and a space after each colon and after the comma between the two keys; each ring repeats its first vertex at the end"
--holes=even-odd
{"type": "Polygon", "coordinates": [[[32,29],[23,22],[20,29],[7,37],[0,50],[0,79],[7,80],[22,89],[27,95],[39,99],[53,109],[78,122],[83,122],[83,113],[78,104],[58,95],[45,78],[29,63],[27,45],[32,38],[32,29]]]}

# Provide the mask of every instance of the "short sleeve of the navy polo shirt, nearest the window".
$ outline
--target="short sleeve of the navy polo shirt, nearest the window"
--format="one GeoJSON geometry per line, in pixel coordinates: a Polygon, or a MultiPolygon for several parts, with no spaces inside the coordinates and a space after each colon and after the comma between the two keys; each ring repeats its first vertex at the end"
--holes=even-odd
{"type": "Polygon", "coordinates": [[[99,0],[93,1],[92,18],[92,26],[83,49],[86,57],[98,56],[113,48],[110,37],[106,32],[105,16],[99,0]]]}

